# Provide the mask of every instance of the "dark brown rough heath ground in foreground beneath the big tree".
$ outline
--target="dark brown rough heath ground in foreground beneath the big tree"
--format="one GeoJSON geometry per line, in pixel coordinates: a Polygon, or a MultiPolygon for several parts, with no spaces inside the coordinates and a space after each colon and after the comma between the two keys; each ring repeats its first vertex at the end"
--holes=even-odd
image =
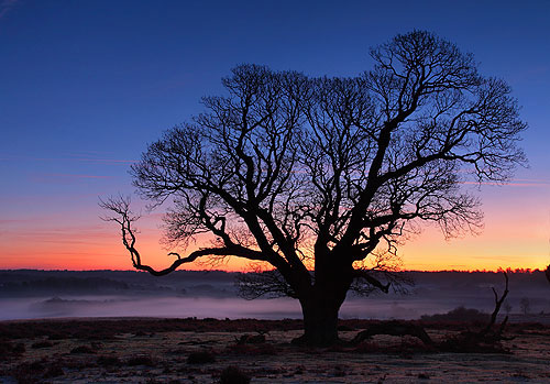
{"type": "MultiPolygon", "coordinates": [[[[341,338],[375,322],[343,320],[341,338]]],[[[436,342],[475,328],[422,326],[436,342]]],[[[550,383],[548,325],[509,325],[501,353],[441,352],[408,336],[309,349],[290,344],[300,327],[253,319],[3,321],[0,382],[245,383],[235,380],[242,374],[251,383],[550,383]]]]}

